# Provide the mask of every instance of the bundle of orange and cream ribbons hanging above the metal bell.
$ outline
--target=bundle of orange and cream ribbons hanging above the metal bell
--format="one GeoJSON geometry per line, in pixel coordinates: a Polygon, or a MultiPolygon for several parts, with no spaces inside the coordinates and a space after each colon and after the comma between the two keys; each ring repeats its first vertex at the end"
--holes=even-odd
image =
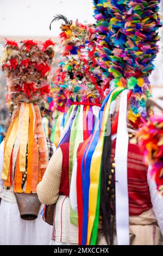
{"type": "Polygon", "coordinates": [[[40,108],[33,103],[20,103],[12,115],[12,123],[4,142],[4,185],[12,185],[14,192],[18,193],[36,192],[47,163],[48,148],[40,108]]]}

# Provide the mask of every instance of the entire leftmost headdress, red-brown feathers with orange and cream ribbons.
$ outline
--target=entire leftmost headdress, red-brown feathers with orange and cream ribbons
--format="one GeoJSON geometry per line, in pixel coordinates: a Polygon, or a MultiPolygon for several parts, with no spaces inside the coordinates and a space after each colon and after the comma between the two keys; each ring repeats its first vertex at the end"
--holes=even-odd
{"type": "Polygon", "coordinates": [[[39,104],[49,93],[54,56],[52,40],[21,44],[7,40],[2,70],[8,78],[7,103],[14,106],[4,141],[2,179],[14,192],[36,192],[48,163],[48,148],[39,104]]]}

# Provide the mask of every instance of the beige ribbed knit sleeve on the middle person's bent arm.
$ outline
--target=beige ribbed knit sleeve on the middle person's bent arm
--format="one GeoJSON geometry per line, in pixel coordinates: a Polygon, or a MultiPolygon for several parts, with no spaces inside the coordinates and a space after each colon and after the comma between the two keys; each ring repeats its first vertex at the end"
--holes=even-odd
{"type": "Polygon", "coordinates": [[[59,197],[62,172],[62,151],[58,148],[48,163],[42,181],[37,185],[37,195],[42,204],[54,204],[59,197]]]}

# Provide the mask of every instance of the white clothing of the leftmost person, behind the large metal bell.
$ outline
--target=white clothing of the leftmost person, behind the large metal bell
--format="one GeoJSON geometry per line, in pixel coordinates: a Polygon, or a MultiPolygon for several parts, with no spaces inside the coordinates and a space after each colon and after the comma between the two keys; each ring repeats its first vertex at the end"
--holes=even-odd
{"type": "MultiPolygon", "coordinates": [[[[4,141],[0,145],[0,245],[48,245],[52,226],[42,220],[41,214],[34,221],[24,221],[14,193],[3,188],[1,179],[4,141]]],[[[40,212],[43,209],[41,205],[40,212]]]]}

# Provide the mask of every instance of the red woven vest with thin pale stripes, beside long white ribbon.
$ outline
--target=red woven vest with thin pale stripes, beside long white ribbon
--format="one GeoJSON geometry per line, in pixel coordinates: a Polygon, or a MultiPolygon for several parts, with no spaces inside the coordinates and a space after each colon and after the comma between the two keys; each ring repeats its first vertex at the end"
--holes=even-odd
{"type": "MultiPolygon", "coordinates": [[[[111,160],[115,156],[115,146],[116,140],[112,142],[111,160]]],[[[147,182],[147,167],[143,164],[143,154],[138,145],[129,143],[127,163],[129,215],[137,216],[152,208],[147,182]]]]}

